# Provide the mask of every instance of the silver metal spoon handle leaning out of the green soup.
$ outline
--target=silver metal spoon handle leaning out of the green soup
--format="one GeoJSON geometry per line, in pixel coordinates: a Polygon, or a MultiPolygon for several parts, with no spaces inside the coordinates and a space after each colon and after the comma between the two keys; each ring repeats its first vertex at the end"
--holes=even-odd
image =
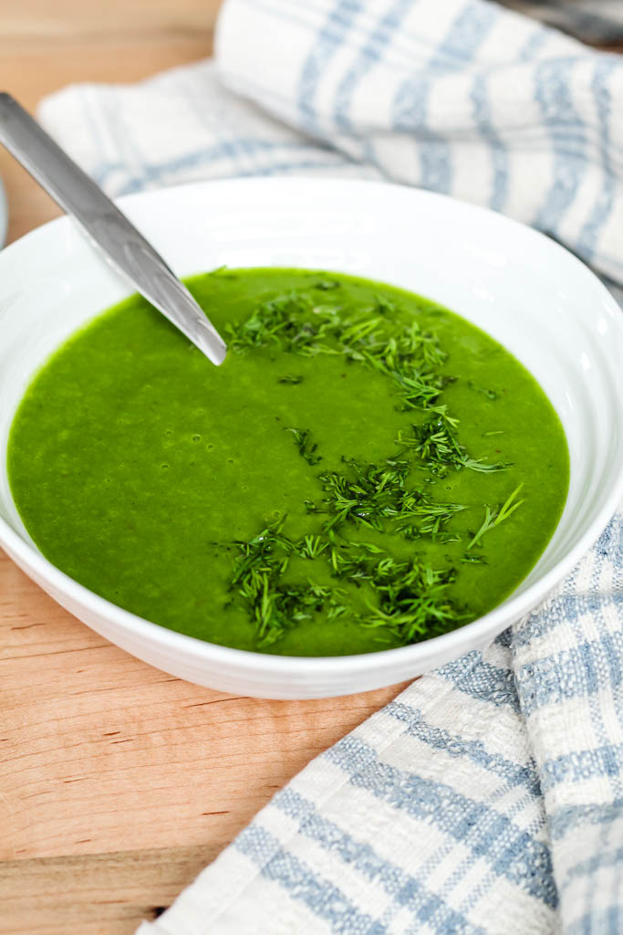
{"type": "Polygon", "coordinates": [[[213,364],[222,364],[227,345],[186,286],[120,209],[10,94],[0,94],[0,143],[78,222],[111,266],[213,364]]]}

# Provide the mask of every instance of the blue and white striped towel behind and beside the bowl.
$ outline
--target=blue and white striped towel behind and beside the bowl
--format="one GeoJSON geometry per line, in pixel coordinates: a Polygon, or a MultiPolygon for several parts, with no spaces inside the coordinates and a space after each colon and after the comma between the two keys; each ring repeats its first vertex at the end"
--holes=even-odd
{"type": "MultiPolygon", "coordinates": [[[[216,65],[41,117],[111,194],[390,178],[623,281],[623,59],[485,0],[227,0],[216,65]]],[[[319,756],[141,935],[620,935],[622,625],[619,512],[545,607],[319,756]]]]}

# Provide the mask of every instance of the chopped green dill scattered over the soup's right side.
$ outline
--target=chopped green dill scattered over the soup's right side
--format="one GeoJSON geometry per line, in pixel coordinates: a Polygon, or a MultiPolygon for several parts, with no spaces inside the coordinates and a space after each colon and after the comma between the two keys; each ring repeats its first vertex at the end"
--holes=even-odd
{"type": "MultiPolygon", "coordinates": [[[[328,621],[347,618],[378,628],[379,640],[403,645],[460,626],[469,614],[447,590],[456,580],[455,568],[486,565],[484,555],[471,550],[523,502],[517,500],[517,487],[502,507],[485,508],[485,520],[475,534],[448,528],[466,507],[432,499],[428,484],[446,477],[452,468],[488,474],[511,466],[474,458],[460,441],[459,420],[442,396],[456,378],[445,372],[447,356],[437,335],[415,317],[402,324],[400,307],[382,295],[364,308],[349,307],[341,285],[320,274],[307,291],[265,299],[245,322],[228,327],[235,353],[265,348],[307,358],[325,354],[342,358],[342,366],[375,370],[387,378],[397,397],[396,409],[408,413],[407,425],[411,422],[408,431],[398,432],[398,450],[390,456],[368,463],[344,455],[337,468],[316,475],[319,496],[304,500],[305,511],[316,519],[310,520],[313,529],[303,537],[290,539],[285,520],[280,520],[247,542],[230,543],[238,551],[232,599],[242,600],[247,608],[261,647],[316,614],[328,621]],[[421,422],[418,411],[423,413],[421,422]],[[421,481],[414,486],[412,475],[422,468],[421,481]],[[446,568],[433,568],[419,555],[397,558],[382,543],[349,541],[348,525],[374,531],[376,539],[379,534],[407,542],[459,543],[465,538],[469,544],[461,557],[446,555],[446,568]],[[323,583],[290,580],[301,568],[320,567],[323,583]],[[347,586],[361,591],[354,605],[347,600],[347,586]]],[[[301,383],[304,377],[296,374],[295,364],[292,370],[278,382],[301,383]]],[[[473,381],[469,385],[491,400],[498,396],[473,381]]],[[[317,466],[322,456],[310,430],[285,430],[304,460],[317,466]]],[[[501,434],[503,430],[490,431],[482,437],[501,434]]]]}

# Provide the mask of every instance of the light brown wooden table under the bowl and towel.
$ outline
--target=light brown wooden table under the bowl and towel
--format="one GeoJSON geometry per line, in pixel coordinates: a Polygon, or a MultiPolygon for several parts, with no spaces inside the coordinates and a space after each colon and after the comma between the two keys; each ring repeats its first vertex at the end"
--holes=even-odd
{"type": "MultiPolygon", "coordinates": [[[[2,16],[3,84],[29,108],[70,81],[140,79],[211,47],[197,24],[52,41],[9,36],[2,16]]],[[[59,213],[4,152],[0,176],[9,239],[59,213]]],[[[0,933],[133,932],[399,687],[283,702],[180,682],[78,623],[0,553],[0,933]]]]}

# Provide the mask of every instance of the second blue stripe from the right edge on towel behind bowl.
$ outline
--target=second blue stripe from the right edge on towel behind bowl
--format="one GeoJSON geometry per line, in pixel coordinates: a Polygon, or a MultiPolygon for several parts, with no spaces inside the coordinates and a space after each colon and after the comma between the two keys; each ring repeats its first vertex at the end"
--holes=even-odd
{"type": "Polygon", "coordinates": [[[587,167],[585,124],[573,103],[571,79],[577,57],[541,62],[534,70],[534,96],[553,152],[553,181],[533,225],[556,234],[573,205],[587,167]]]}

